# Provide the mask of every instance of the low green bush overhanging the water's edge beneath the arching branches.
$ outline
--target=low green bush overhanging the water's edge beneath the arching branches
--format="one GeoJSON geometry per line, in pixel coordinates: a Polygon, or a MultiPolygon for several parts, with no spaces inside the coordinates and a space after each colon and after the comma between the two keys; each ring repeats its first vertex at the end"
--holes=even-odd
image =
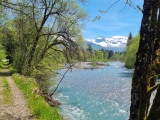
{"type": "MultiPolygon", "coordinates": [[[[52,52],[51,52],[52,54],[52,52]]],[[[54,54],[53,54],[54,55],[54,54]]],[[[64,61],[61,59],[64,58],[63,55],[61,55],[61,53],[57,53],[57,56],[54,55],[54,57],[52,56],[48,56],[45,57],[43,59],[43,61],[41,61],[36,68],[34,68],[31,76],[33,76],[39,84],[39,87],[41,88],[41,90],[44,93],[49,94],[49,88],[53,85],[55,85],[56,83],[56,72],[55,70],[60,68],[60,64],[59,63],[63,63],[64,61]],[[57,61],[54,61],[54,59],[56,58],[57,61]],[[55,78],[54,80],[51,78],[55,78]]]]}

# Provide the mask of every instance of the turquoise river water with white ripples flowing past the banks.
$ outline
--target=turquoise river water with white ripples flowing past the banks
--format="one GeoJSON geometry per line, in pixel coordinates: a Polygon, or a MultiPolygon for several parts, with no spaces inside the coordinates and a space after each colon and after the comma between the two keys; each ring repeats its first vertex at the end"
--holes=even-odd
{"type": "Polygon", "coordinates": [[[62,103],[60,113],[67,120],[128,119],[133,70],[121,62],[109,64],[101,69],[67,73],[56,95],[62,103]]]}

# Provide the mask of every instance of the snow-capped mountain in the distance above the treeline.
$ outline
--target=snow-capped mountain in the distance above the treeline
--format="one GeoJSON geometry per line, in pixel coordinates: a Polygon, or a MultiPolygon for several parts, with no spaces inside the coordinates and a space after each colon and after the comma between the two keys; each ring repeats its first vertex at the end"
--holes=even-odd
{"type": "Polygon", "coordinates": [[[91,46],[95,49],[105,49],[105,50],[113,50],[113,51],[124,51],[124,48],[127,44],[127,37],[124,36],[112,36],[112,37],[97,37],[96,39],[86,39],[87,45],[91,44],[91,46]]]}

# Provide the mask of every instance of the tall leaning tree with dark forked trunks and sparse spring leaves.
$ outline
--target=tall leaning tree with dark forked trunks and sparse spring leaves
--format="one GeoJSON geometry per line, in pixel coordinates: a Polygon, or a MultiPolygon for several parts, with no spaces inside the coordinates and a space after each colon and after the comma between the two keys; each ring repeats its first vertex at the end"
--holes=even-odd
{"type": "MultiPolygon", "coordinates": [[[[25,0],[5,1],[1,5],[21,13],[32,23],[32,42],[27,56],[27,67],[24,74],[30,75],[34,67],[44,59],[50,49],[58,51],[54,46],[60,46],[65,51],[76,51],[78,41],[82,38],[80,21],[86,18],[86,13],[76,0],[25,0]],[[34,35],[33,35],[34,34],[34,35]],[[39,43],[43,45],[39,46],[39,43]]],[[[23,67],[23,66],[22,66],[23,67]]]]}

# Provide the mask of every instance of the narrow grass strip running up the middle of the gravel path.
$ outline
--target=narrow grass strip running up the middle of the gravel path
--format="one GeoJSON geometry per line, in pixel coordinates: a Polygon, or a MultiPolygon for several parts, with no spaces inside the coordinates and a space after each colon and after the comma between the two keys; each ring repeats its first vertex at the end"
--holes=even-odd
{"type": "Polygon", "coordinates": [[[2,82],[4,84],[2,95],[4,97],[4,104],[12,103],[12,92],[11,87],[5,76],[2,76],[2,82]]]}

